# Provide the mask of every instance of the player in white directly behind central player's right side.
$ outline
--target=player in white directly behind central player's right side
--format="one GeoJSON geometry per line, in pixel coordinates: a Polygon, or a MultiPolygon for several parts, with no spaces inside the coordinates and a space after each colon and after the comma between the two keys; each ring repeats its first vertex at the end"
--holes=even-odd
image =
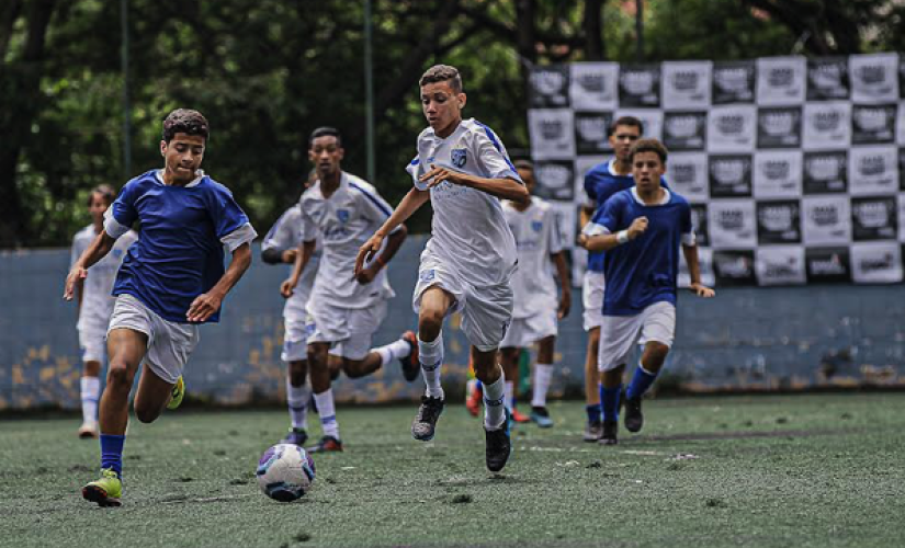
{"type": "MultiPolygon", "coordinates": [[[[531,194],[534,191],[534,165],[528,160],[516,162],[519,176],[531,194]]],[[[519,356],[524,347],[538,343],[538,363],[531,383],[531,421],[542,429],[553,426],[546,409],[546,392],[553,379],[553,354],[557,321],[572,307],[566,254],[550,204],[532,196],[528,203],[502,203],[502,213],[516,238],[519,267],[512,274],[514,307],[512,323],[500,342],[500,361],[506,374],[506,402],[510,413],[516,410],[516,386],[519,380],[519,356]],[[559,296],[556,292],[559,279],[559,296]]]]}

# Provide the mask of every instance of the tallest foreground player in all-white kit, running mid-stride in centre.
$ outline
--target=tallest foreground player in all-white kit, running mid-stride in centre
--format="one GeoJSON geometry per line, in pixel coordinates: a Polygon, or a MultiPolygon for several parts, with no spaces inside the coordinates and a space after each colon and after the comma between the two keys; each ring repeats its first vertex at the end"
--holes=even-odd
{"type": "Polygon", "coordinates": [[[504,406],[506,377],[497,350],[512,319],[509,281],[517,262],[516,240],[500,198],[527,202],[529,194],[496,134],[474,118],[462,119],[467,98],[459,70],[433,66],[419,85],[429,127],[418,136],[418,153],[407,168],[415,187],[362,246],[355,271],[362,272],[384,239],[431,202],[431,238],[421,253],[412,296],[427,393],[411,423],[411,435],[420,441],[433,438],[444,407],[440,384],[443,321],[459,311],[475,376],[484,384],[486,461],[496,472],[506,466],[511,452],[504,406]]]}

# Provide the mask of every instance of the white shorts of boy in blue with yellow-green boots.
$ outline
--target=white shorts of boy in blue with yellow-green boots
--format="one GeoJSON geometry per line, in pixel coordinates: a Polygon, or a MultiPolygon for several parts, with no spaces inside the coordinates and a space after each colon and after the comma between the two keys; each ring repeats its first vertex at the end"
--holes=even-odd
{"type": "Polygon", "coordinates": [[[114,329],[132,329],[148,335],[145,363],[155,375],[171,385],[182,375],[201,339],[197,326],[165,320],[132,295],[116,297],[108,335],[114,329]]]}

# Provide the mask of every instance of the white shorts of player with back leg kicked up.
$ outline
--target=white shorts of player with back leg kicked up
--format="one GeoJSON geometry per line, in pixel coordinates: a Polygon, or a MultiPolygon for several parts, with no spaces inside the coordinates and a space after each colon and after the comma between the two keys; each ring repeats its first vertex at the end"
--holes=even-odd
{"type": "MultiPolygon", "coordinates": [[[[316,299],[317,300],[317,299],[316,299]]],[[[386,300],[371,308],[340,308],[321,302],[308,307],[308,344],[332,343],[330,354],[364,359],[374,332],[386,318],[386,300]]]]}

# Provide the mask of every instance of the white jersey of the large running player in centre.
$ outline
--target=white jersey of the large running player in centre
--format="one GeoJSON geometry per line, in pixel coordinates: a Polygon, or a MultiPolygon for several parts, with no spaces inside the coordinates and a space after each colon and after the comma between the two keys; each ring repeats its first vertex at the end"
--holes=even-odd
{"type": "MultiPolygon", "coordinates": [[[[442,139],[427,128],[418,136],[418,156],[408,165],[415,186],[431,164],[488,179],[521,181],[506,147],[494,132],[474,118],[463,119],[442,139]]],[[[430,190],[431,239],[426,251],[442,258],[459,276],[475,286],[505,284],[516,267],[516,240],[506,224],[500,199],[448,181],[430,190]]]]}

